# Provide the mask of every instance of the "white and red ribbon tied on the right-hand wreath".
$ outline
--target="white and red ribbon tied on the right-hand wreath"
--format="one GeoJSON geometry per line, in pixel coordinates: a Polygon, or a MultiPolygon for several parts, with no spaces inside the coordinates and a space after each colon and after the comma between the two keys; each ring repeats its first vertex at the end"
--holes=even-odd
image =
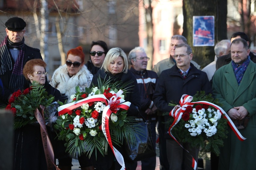
{"type": "MultiPolygon", "coordinates": [[[[182,95],[181,96],[181,100],[180,100],[180,106],[175,106],[172,111],[169,113],[170,116],[172,116],[174,118],[174,121],[172,123],[172,125],[169,128],[169,135],[181,146],[181,144],[175,139],[175,137],[172,135],[171,130],[172,128],[180,121],[182,114],[185,112],[185,110],[187,109],[187,106],[191,106],[193,107],[194,104],[207,104],[210,105],[212,107],[214,107],[217,110],[220,110],[221,115],[224,115],[224,118],[226,118],[228,120],[228,125],[230,126],[230,128],[233,130],[233,132],[236,134],[237,138],[241,141],[245,140],[246,138],[243,137],[241,135],[241,133],[239,132],[239,130],[237,130],[236,126],[234,125],[234,123],[232,122],[232,120],[230,119],[230,117],[227,115],[227,113],[219,106],[217,106],[216,104],[213,104],[211,102],[208,101],[197,101],[197,102],[191,102],[193,99],[192,96],[190,95],[182,95]],[[178,108],[177,108],[178,107],[178,108]],[[177,109],[176,109],[177,108],[177,109]],[[176,109],[176,110],[175,110],[176,109]],[[175,110],[175,111],[174,111],[175,110]]],[[[181,146],[182,147],[182,146],[181,146]]],[[[182,147],[183,148],[183,147],[182,147]]],[[[185,149],[186,150],[186,149],[185,149]]],[[[186,150],[187,151],[187,150],[186,150]]],[[[187,151],[188,152],[188,151],[187,151]]],[[[189,152],[188,152],[189,153],[189,152]]],[[[192,157],[192,155],[191,155],[192,157]]],[[[195,161],[195,159],[192,157],[192,167],[194,169],[196,169],[197,167],[197,162],[195,161]]]]}

